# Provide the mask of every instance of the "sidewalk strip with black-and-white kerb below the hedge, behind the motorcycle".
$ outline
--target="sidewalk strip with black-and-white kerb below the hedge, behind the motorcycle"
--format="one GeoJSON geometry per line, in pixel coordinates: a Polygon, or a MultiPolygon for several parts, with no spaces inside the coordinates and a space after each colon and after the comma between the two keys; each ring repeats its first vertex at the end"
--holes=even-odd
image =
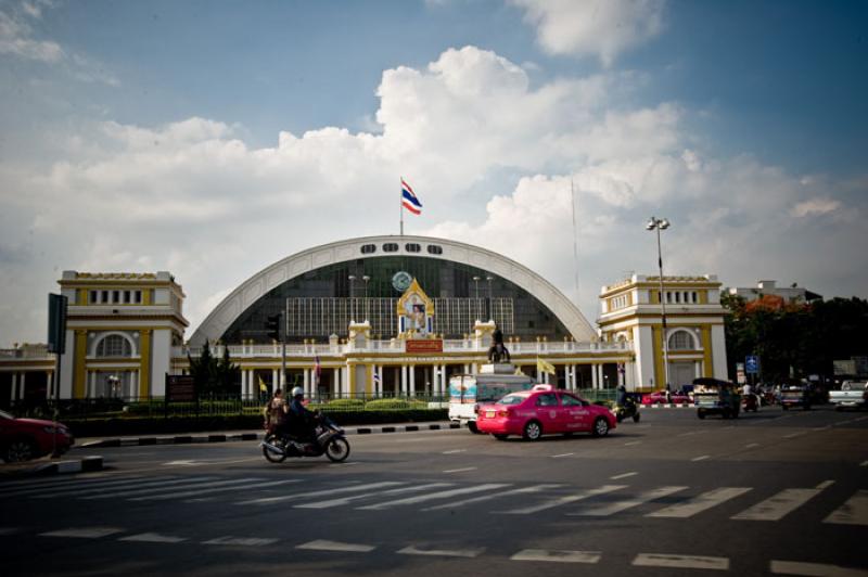
{"type": "MultiPolygon", "coordinates": [[[[370,435],[376,433],[413,433],[419,431],[448,431],[460,428],[457,423],[442,421],[435,423],[400,423],[373,426],[342,427],[347,435],[370,435]]],[[[238,440],[261,440],[265,432],[226,431],[215,433],[191,433],[182,435],[145,435],[125,437],[85,437],[76,441],[74,449],[93,449],[100,447],[140,447],[143,445],[182,445],[192,443],[229,443],[238,440]]]]}

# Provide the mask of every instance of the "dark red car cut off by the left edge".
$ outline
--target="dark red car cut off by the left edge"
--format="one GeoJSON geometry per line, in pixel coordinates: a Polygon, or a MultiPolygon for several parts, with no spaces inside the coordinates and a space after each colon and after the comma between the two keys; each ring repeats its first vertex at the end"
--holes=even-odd
{"type": "Polygon", "coordinates": [[[0,458],[8,463],[28,461],[43,454],[63,454],[75,444],[66,425],[51,421],[15,419],[0,411],[0,458]]]}

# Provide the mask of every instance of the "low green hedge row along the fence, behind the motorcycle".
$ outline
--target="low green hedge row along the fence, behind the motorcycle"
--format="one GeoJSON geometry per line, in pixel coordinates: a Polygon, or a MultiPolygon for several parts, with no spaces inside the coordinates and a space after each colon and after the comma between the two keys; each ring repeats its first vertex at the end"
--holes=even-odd
{"type": "MultiPolygon", "coordinates": [[[[323,408],[324,409],[324,408],[323,408]]],[[[368,425],[382,423],[413,423],[444,421],[448,418],[446,409],[411,410],[366,410],[341,411],[328,409],[323,412],[339,425],[368,425]]],[[[175,433],[195,433],[203,431],[250,431],[263,427],[259,414],[225,414],[207,416],[151,418],[108,418],[87,421],[64,420],[76,437],[105,437],[124,435],[165,435],[175,433]]]]}

